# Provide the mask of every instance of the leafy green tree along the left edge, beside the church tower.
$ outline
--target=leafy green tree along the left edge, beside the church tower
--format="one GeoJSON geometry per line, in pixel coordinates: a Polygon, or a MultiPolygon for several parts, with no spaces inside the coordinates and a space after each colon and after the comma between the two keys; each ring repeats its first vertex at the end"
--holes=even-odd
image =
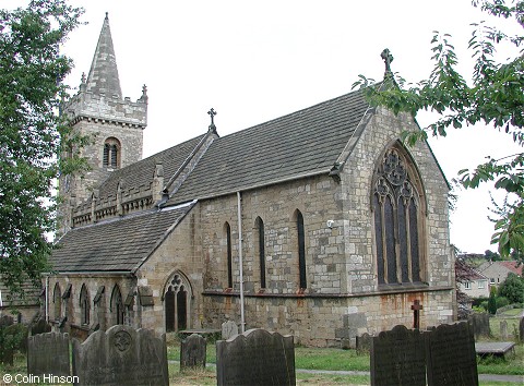
{"type": "Polygon", "coordinates": [[[23,298],[22,284],[47,268],[53,181],[84,165],[78,152],[59,157],[82,141],[61,141],[71,129],[58,113],[72,67],[59,48],[82,13],[66,0],[0,10],[0,280],[11,295],[23,298]]]}

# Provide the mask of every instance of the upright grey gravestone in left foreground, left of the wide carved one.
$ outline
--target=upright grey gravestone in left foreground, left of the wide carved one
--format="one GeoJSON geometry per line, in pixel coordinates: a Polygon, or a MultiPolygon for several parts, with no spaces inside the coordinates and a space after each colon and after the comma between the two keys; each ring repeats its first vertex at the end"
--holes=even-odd
{"type": "Polygon", "coordinates": [[[27,374],[69,376],[69,335],[45,333],[28,337],[27,374]]]}

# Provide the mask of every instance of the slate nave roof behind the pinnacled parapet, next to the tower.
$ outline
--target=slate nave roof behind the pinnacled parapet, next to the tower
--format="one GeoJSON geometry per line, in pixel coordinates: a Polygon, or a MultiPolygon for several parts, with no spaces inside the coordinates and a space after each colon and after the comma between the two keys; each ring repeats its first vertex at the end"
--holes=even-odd
{"type": "Polygon", "coordinates": [[[191,152],[204,136],[205,134],[202,134],[138,162],[131,164],[126,168],[112,171],[99,185],[98,198],[115,198],[119,182],[121,182],[124,192],[129,189],[148,189],[148,185],[153,181],[156,164],[162,164],[164,168],[164,183],[167,183],[169,178],[175,174],[178,168],[182,165],[186,158],[189,157],[191,152]]]}

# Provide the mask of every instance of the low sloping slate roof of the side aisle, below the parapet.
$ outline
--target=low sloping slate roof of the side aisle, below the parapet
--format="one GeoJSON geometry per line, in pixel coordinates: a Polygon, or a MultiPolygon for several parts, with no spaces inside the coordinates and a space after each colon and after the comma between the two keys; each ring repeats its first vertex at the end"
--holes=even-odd
{"type": "Polygon", "coordinates": [[[50,258],[52,269],[134,272],[193,205],[147,210],[72,229],[57,243],[50,258]]]}

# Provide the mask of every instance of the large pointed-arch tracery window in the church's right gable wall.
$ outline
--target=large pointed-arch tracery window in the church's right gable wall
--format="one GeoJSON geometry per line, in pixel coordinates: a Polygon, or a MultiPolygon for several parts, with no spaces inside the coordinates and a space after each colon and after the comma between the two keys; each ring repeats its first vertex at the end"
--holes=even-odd
{"type": "Polygon", "coordinates": [[[372,196],[379,285],[421,281],[424,196],[419,181],[400,148],[384,154],[372,196]]]}

